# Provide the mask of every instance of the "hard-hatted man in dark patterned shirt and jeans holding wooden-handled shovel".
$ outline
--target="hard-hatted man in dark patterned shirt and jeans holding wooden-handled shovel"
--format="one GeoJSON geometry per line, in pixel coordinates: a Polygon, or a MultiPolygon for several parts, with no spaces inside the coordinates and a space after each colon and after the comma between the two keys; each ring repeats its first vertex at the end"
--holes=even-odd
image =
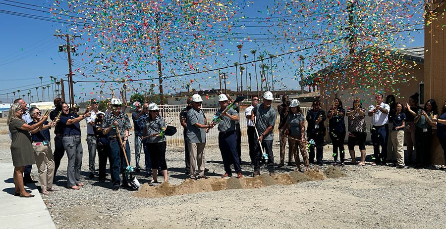
{"type": "Polygon", "coordinates": [[[130,163],[130,145],[128,144],[128,130],[132,128],[130,124],[130,119],[128,115],[121,111],[121,100],[118,98],[111,99],[111,112],[108,113],[104,118],[103,134],[107,135],[110,140],[110,148],[111,148],[111,180],[113,183],[113,190],[118,190],[119,186],[128,188],[127,178],[124,175],[124,171],[127,167],[127,163],[125,162],[124,153],[127,155],[127,158],[130,163]],[[119,128],[119,134],[121,136],[121,140],[123,143],[123,147],[125,152],[122,151],[118,134],[116,132],[116,126],[119,128]],[[119,178],[119,172],[122,171],[122,183],[119,178]]]}

